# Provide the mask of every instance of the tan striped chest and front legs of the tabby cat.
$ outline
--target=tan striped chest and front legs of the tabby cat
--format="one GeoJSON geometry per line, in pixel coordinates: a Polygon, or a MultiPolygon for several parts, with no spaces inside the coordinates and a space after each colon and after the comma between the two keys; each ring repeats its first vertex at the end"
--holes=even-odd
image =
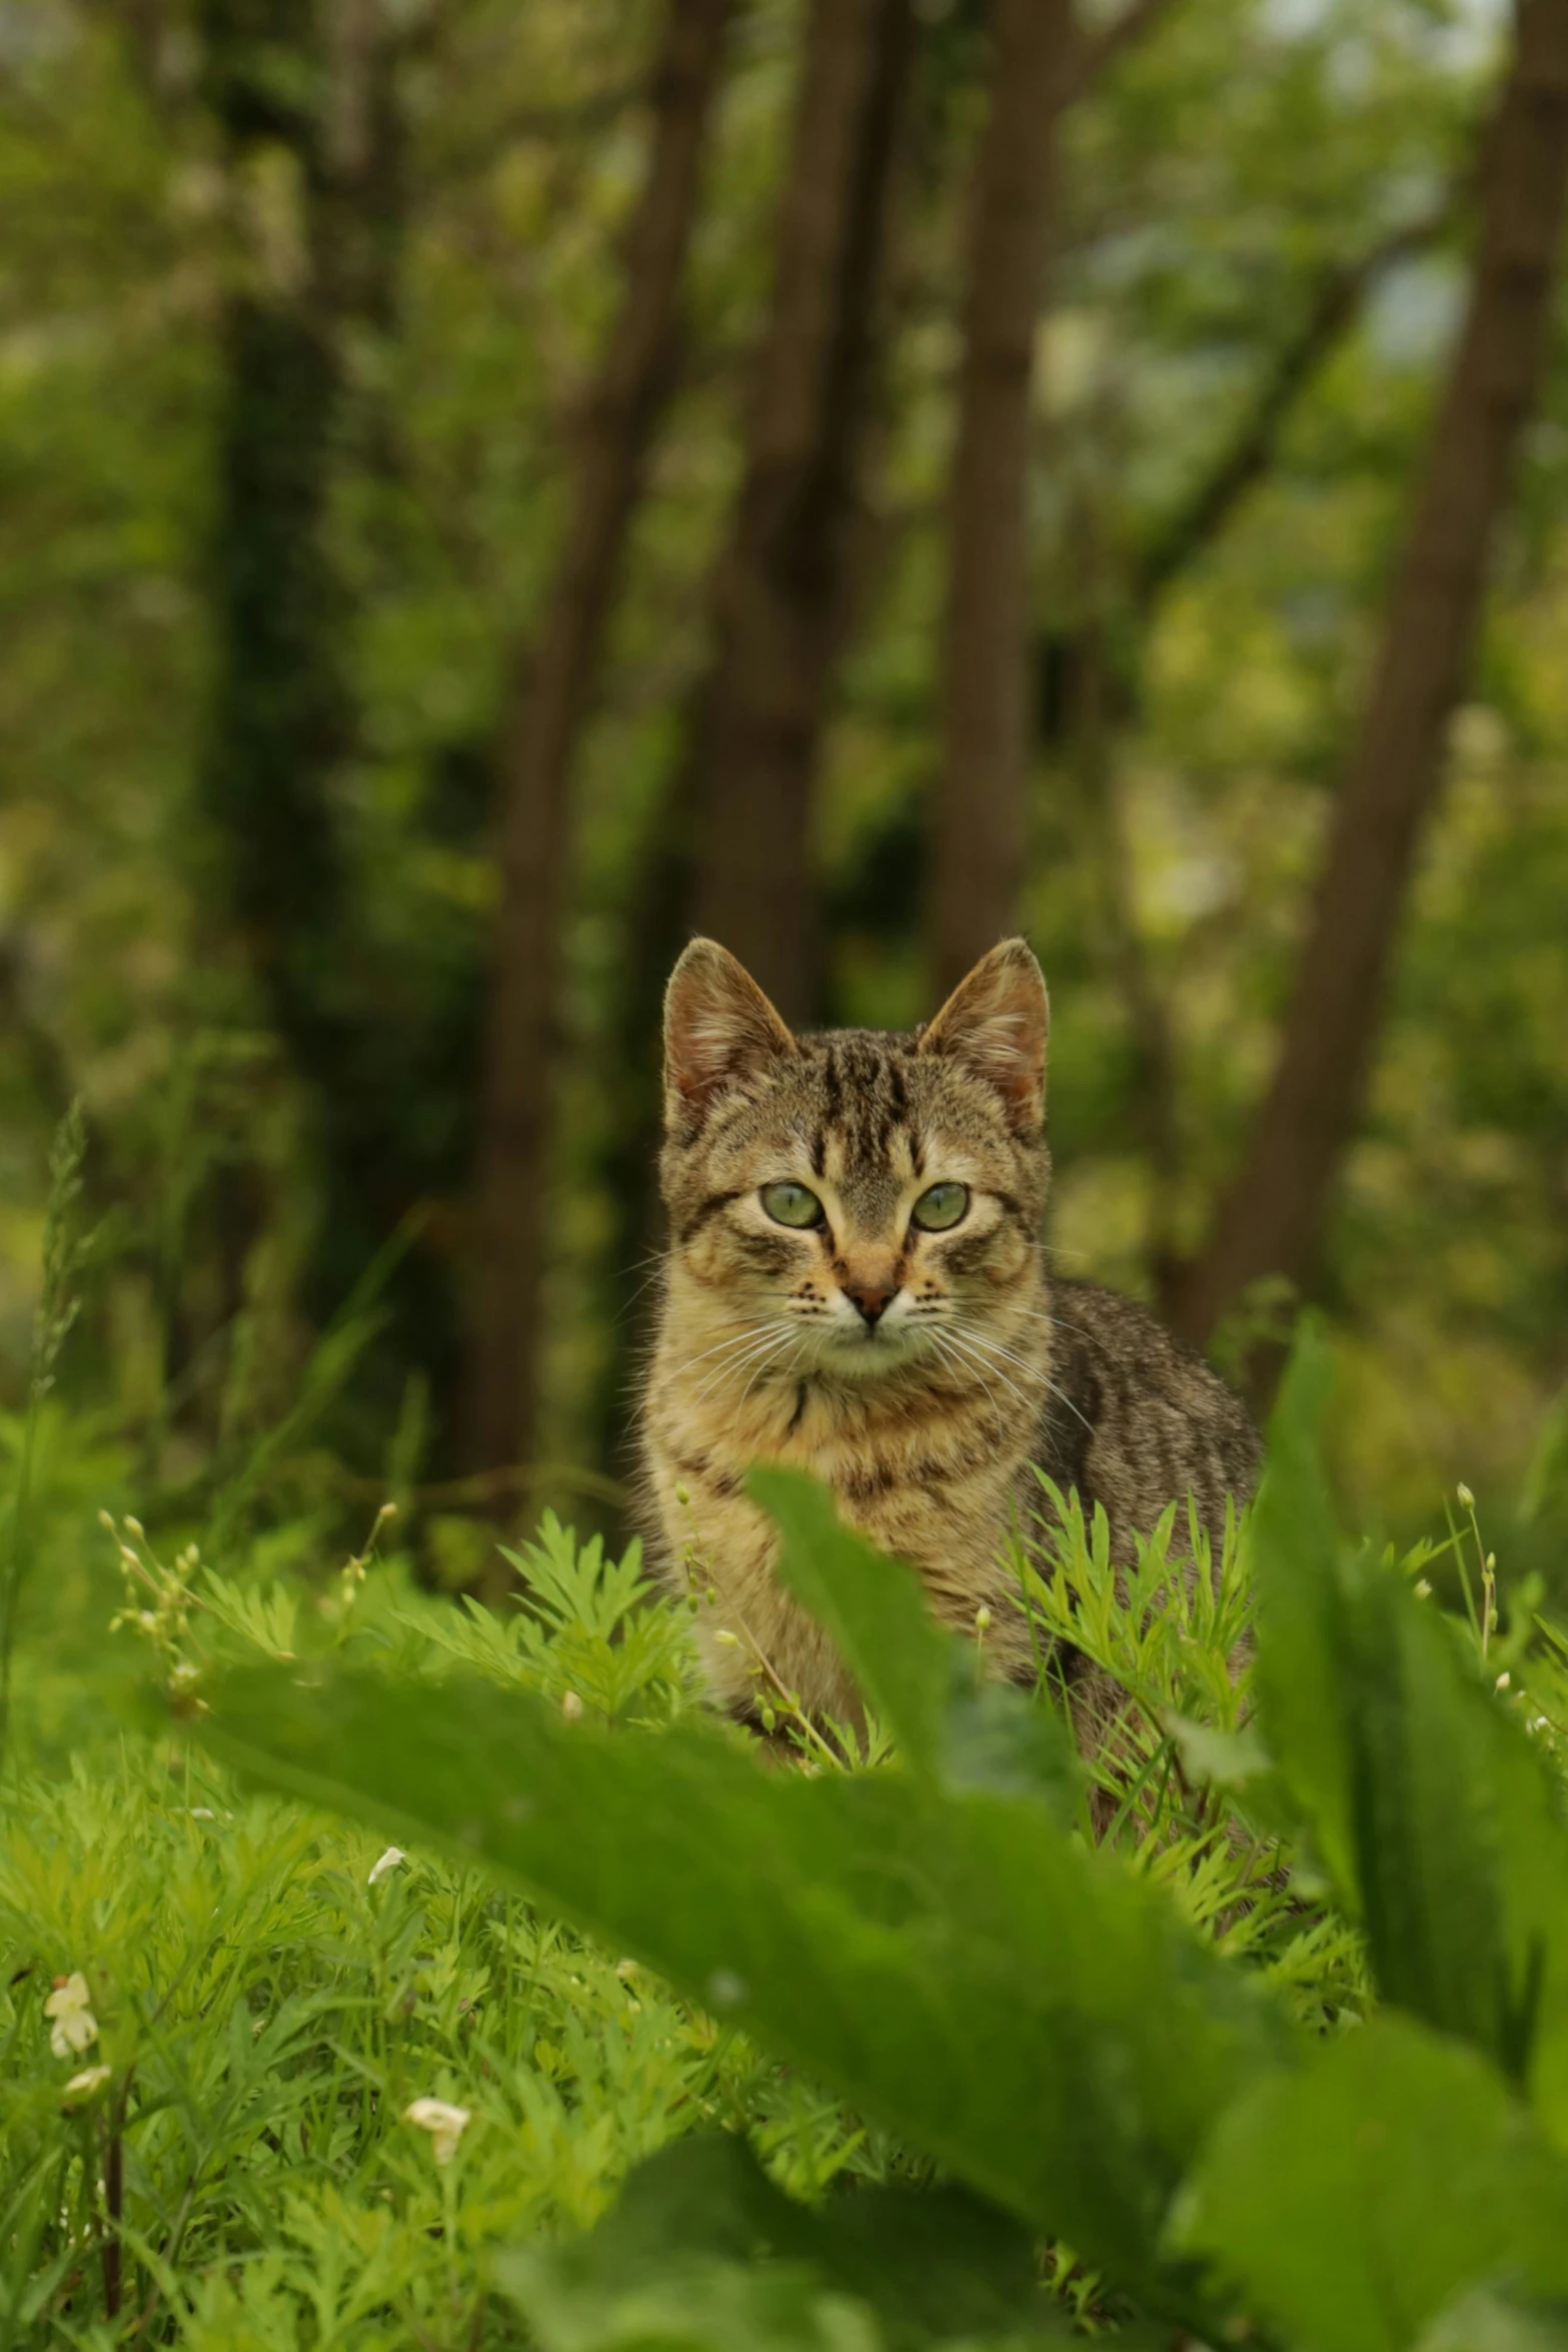
{"type": "Polygon", "coordinates": [[[1025,1665],[1001,1545],[1034,1428],[1027,1392],[785,1381],[708,1402],[656,1359],[644,1430],[663,1569],[698,1602],[715,1696],[745,1708],[783,1689],[811,1715],[856,1715],[832,1644],[776,1578],[776,1529],[743,1486],[757,1461],[823,1479],[851,1526],[914,1564],[940,1623],[971,1632],[990,1606],[987,1642],[1020,1649],[999,1663],[1025,1665]]]}

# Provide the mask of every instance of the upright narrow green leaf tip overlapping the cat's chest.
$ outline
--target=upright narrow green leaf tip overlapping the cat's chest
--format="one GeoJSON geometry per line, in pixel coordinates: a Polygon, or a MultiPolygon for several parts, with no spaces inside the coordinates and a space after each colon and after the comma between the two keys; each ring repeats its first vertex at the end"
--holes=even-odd
{"type": "Polygon", "coordinates": [[[931,1621],[914,1569],[844,1526],[832,1494],[799,1470],[759,1468],[748,1486],[778,1522],[780,1581],[832,1635],[912,1769],[950,1788],[1041,1797],[1072,1820],[1081,1773],[1065,1726],[983,1675],[973,1646],[931,1621]]]}

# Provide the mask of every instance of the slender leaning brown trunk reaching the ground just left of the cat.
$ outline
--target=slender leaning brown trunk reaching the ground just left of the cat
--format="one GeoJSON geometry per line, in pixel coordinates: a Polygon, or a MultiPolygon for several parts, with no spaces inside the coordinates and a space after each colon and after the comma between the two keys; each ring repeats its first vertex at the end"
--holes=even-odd
{"type": "Polygon", "coordinates": [[[475,1167],[468,1454],[477,1470],[527,1461],[534,1444],[571,757],[599,670],[649,445],[675,381],[679,282],[731,9],[733,0],[670,0],[621,315],[583,419],[543,630],[531,659],[520,663],[503,729],[501,908],[475,1167]]]}

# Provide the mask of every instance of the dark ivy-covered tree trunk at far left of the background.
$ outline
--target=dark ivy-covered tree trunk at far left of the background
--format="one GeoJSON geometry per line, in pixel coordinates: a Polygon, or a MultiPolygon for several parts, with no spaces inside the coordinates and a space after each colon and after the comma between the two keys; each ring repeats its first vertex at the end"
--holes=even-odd
{"type": "MultiPolygon", "coordinates": [[[[416,988],[388,983],[364,941],[334,821],[357,727],[355,614],[329,534],[353,437],[343,343],[355,325],[395,325],[407,35],[378,0],[205,0],[200,31],[202,94],[249,230],[221,329],[214,682],[195,776],[214,868],[205,908],[214,955],[237,934],[301,1082],[320,1185],[303,1298],[324,1324],[430,1188],[430,1148],[407,1115],[411,1065],[433,1058],[411,1037],[416,988]]],[[[254,1185],[219,1171],[214,1190],[242,1263],[254,1185]]],[[[449,1294],[433,1256],[409,1254],[388,1277],[376,1378],[393,1399],[409,1359],[447,1369],[449,1294]]]]}

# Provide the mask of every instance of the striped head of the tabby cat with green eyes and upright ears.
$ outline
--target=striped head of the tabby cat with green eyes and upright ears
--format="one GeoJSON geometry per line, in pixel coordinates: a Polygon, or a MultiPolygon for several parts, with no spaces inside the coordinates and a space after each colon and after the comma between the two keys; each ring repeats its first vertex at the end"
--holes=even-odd
{"type": "Polygon", "coordinates": [[[675,1263],[752,1322],[780,1369],[957,1369],[1034,1261],[1046,1030],[1020,938],[912,1035],[813,1037],[785,1028],[733,955],[691,941],[665,997],[675,1263]]]}

